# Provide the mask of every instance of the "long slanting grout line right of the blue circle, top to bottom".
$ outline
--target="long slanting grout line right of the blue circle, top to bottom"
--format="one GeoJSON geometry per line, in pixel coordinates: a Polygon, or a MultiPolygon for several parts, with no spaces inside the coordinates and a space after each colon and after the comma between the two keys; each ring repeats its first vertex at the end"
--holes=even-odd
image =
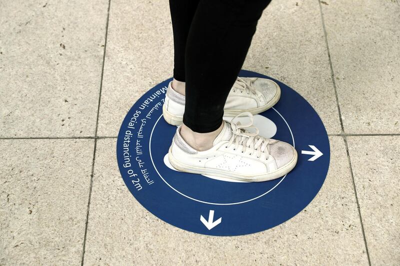
{"type": "Polygon", "coordinates": [[[365,246],[365,250],[366,250],[366,256],[368,259],[368,265],[371,266],[371,260],[369,258],[369,252],[368,252],[368,245],[366,243],[366,238],[365,238],[365,231],[364,231],[364,225],[362,223],[362,217],[361,217],[361,210],[359,208],[359,203],[358,203],[358,195],[357,195],[357,190],[355,188],[355,181],[354,181],[354,175],[353,175],[353,170],[351,167],[351,160],[350,160],[350,153],[348,151],[348,145],[347,145],[347,136],[344,133],[344,127],[343,127],[343,120],[341,118],[341,112],[340,112],[340,105],[339,105],[339,98],[337,96],[337,87],[336,87],[336,82],[334,80],[334,72],[333,72],[333,66],[332,66],[332,60],[330,58],[330,51],[329,51],[329,44],[328,44],[328,38],[327,38],[327,33],[326,33],[326,28],[325,28],[325,21],[323,19],[323,13],[322,13],[322,6],[321,6],[321,2],[320,0],[318,0],[318,5],[319,5],[319,13],[321,15],[321,23],[322,23],[322,29],[323,29],[323,34],[324,34],[324,38],[325,38],[325,44],[326,44],[326,50],[328,53],[328,60],[329,60],[329,66],[330,66],[330,74],[332,77],[332,83],[333,83],[333,89],[334,89],[334,94],[336,97],[336,105],[337,105],[337,111],[339,113],[339,121],[340,121],[340,126],[341,126],[341,134],[343,136],[343,140],[344,140],[344,145],[346,147],[346,154],[347,154],[347,160],[348,160],[348,164],[350,167],[350,176],[351,176],[351,180],[353,183],[353,190],[354,190],[354,196],[355,196],[355,202],[357,204],[357,211],[358,211],[358,218],[361,224],[361,232],[362,232],[362,237],[364,240],[364,246],[365,246]]]}

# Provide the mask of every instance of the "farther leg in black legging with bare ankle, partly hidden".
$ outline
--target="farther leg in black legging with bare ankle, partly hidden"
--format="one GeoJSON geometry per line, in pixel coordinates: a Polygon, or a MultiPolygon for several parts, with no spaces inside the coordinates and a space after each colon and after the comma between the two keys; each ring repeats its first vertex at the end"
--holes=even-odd
{"type": "Polygon", "coordinates": [[[199,0],[169,0],[173,32],[172,88],[185,94],[185,49],[191,21],[199,0]]]}

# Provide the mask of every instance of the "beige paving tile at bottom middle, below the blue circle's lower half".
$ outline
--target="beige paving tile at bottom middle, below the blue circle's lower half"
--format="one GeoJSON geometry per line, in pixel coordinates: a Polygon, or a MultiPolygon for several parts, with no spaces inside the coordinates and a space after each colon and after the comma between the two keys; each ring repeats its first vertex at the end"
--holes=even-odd
{"type": "Polygon", "coordinates": [[[183,231],[147,212],[125,187],[115,140],[97,142],[85,265],[367,265],[343,139],[316,198],[271,230],[241,237],[183,231]]]}

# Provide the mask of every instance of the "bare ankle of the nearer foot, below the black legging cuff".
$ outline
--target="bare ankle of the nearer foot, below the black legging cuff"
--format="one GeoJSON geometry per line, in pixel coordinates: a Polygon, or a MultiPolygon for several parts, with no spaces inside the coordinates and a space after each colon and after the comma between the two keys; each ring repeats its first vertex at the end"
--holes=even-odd
{"type": "Polygon", "coordinates": [[[223,123],[215,131],[209,133],[198,133],[192,131],[183,124],[180,128],[180,136],[182,136],[183,140],[196,151],[206,151],[212,148],[213,142],[216,136],[221,132],[222,128],[223,123]]]}

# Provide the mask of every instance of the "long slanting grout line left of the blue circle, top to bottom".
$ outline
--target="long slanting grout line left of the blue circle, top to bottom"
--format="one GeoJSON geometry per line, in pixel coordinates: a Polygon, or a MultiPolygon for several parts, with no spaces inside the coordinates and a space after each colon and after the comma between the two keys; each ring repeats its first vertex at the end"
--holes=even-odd
{"type": "Polygon", "coordinates": [[[103,61],[102,61],[102,65],[101,65],[100,89],[99,89],[99,93],[98,93],[98,103],[97,103],[96,127],[95,127],[95,131],[94,131],[93,160],[92,160],[92,164],[91,164],[89,196],[88,196],[88,200],[87,200],[87,211],[86,211],[86,223],[85,223],[85,229],[84,229],[84,235],[83,235],[82,257],[81,257],[81,263],[80,263],[81,266],[83,266],[84,253],[85,253],[85,248],[86,248],[86,236],[87,236],[87,225],[88,225],[88,222],[89,222],[91,189],[92,189],[92,186],[93,186],[94,161],[95,161],[95,158],[96,158],[97,139],[99,139],[97,137],[97,129],[98,129],[98,117],[99,117],[99,111],[100,111],[101,90],[102,90],[102,86],[103,86],[105,51],[106,51],[106,48],[107,48],[107,34],[108,34],[108,20],[109,20],[109,7],[110,7],[110,4],[111,4],[111,0],[108,0],[107,20],[106,20],[106,23],[105,23],[103,61]]]}

